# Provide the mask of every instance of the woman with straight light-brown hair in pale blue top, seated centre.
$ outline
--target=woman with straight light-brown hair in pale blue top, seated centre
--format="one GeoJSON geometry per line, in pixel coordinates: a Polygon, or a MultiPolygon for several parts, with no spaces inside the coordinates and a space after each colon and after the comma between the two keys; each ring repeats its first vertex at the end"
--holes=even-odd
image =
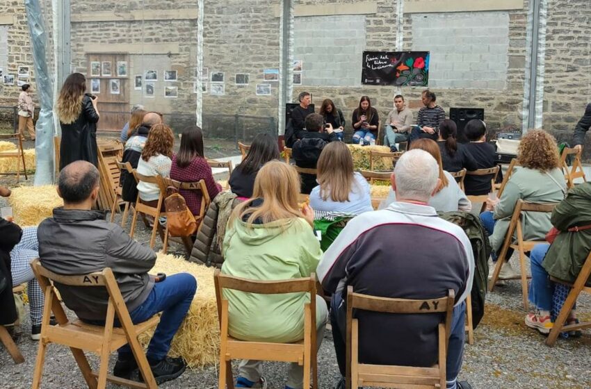
{"type": "Polygon", "coordinates": [[[343,142],[327,144],[316,165],[318,186],[310,193],[316,211],[359,215],[373,210],[369,184],[354,171],[353,157],[343,142]]]}

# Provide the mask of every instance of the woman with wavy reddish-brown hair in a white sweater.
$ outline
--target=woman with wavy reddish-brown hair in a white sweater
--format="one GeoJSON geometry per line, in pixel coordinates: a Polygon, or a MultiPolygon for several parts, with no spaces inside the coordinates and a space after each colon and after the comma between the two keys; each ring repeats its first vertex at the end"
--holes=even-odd
{"type": "MultiPolygon", "coordinates": [[[[142,156],[138,162],[137,172],[143,176],[170,176],[172,166],[172,145],[175,137],[172,130],[165,124],[152,126],[148,133],[142,156]]],[[[160,188],[155,183],[138,183],[140,200],[149,206],[158,206],[160,188]]],[[[164,206],[164,204],[162,204],[164,206]]]]}

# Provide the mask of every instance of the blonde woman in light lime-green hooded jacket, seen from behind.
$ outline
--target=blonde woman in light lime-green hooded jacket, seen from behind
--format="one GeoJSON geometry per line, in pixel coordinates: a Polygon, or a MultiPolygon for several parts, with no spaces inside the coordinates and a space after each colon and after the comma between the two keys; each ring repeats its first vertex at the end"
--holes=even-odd
{"type": "MultiPolygon", "coordinates": [[[[314,212],[298,207],[300,179],[286,163],[266,163],[254,180],[252,199],[234,209],[224,237],[222,273],[244,279],[298,279],[316,272],[322,251],[311,226],[314,212]]],[[[259,295],[224,290],[228,299],[229,333],[257,342],[297,342],[304,338],[306,293],[259,295]]],[[[318,347],[328,311],[316,296],[318,347]]],[[[301,389],[303,367],[291,363],[286,388],[301,389]]],[[[261,362],[244,360],[238,367],[237,388],[265,388],[261,362]]]]}

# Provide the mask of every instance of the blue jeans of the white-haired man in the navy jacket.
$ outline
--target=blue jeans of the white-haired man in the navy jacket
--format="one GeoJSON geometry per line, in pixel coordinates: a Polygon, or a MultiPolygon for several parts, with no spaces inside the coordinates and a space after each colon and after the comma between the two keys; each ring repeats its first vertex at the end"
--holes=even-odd
{"type": "MultiPolygon", "coordinates": [[[[339,371],[342,376],[345,376],[347,309],[342,302],[341,293],[335,293],[332,296],[330,300],[330,323],[332,325],[332,339],[334,340],[334,352],[337,354],[339,371]]],[[[462,304],[458,304],[453,308],[451,316],[451,332],[446,361],[447,389],[457,388],[456,381],[462,367],[462,357],[464,356],[465,320],[466,301],[462,301],[462,304]]]]}

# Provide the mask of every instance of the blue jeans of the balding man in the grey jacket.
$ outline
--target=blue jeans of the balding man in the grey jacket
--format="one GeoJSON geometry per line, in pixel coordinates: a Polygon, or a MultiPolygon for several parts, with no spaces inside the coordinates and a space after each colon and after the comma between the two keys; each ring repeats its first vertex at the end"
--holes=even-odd
{"type": "MultiPolygon", "coordinates": [[[[164,281],[155,283],[143,304],[129,313],[133,324],[139,324],[156,313],[162,312],[154,336],[149,342],[147,358],[152,361],[161,361],[168,354],[172,337],[181,326],[196,290],[197,281],[191,274],[172,274],[164,281]]],[[[118,349],[118,352],[131,354],[131,348],[129,345],[124,345],[118,349]]]]}

